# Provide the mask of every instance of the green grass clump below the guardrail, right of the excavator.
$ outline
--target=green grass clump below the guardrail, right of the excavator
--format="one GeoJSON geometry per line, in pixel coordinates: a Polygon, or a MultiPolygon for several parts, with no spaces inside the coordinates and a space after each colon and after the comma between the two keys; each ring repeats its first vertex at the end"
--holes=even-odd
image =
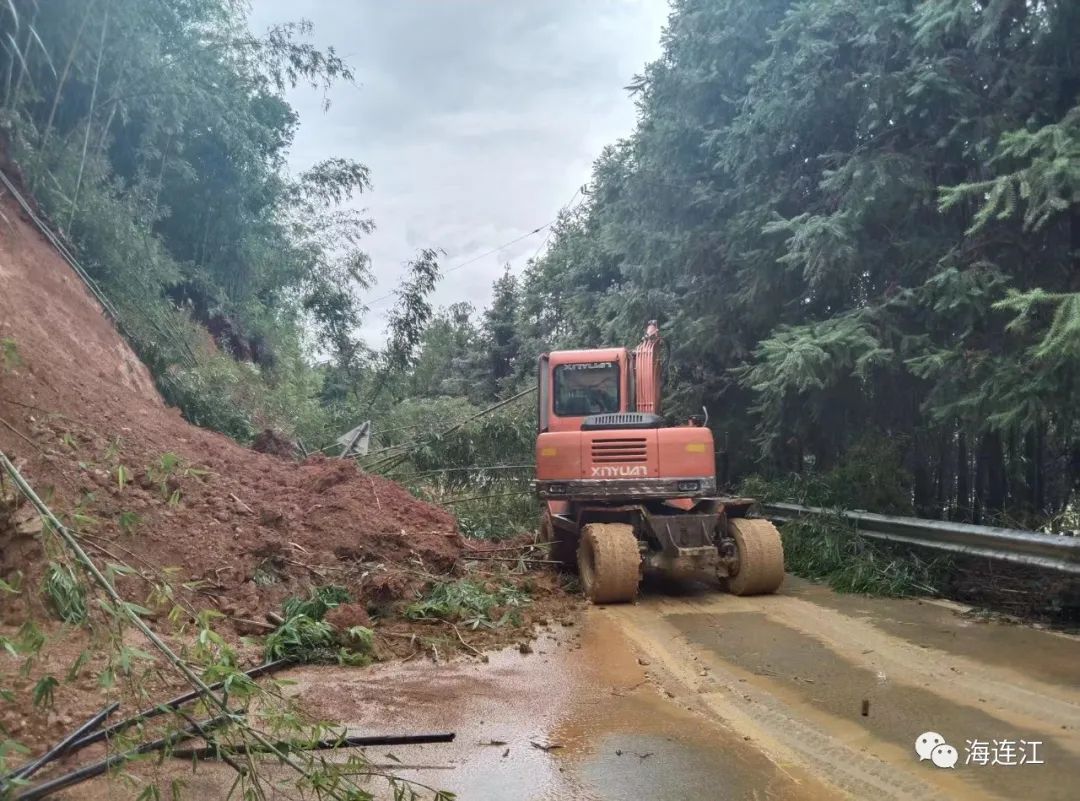
{"type": "Polygon", "coordinates": [[[872,542],[839,518],[789,522],[781,538],[787,570],[838,593],[940,595],[951,567],[944,556],[924,560],[909,548],[872,542]]]}

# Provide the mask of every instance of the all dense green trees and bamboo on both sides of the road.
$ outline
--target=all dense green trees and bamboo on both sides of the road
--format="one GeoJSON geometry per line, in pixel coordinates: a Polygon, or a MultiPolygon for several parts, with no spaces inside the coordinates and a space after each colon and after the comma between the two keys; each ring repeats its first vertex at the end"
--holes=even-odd
{"type": "Polygon", "coordinates": [[[1070,508],[1080,4],[675,0],[627,87],[636,130],[548,248],[484,310],[431,308],[438,243],[403,254],[380,347],[356,335],[367,169],[285,168],[285,90],[353,80],[308,33],[253,35],[232,0],[0,3],[9,155],[191,420],[316,448],[372,419],[370,469],[519,517],[531,404],[477,412],[543,350],[657,318],[667,410],[708,409],[727,483],[974,521],[1070,508]]]}

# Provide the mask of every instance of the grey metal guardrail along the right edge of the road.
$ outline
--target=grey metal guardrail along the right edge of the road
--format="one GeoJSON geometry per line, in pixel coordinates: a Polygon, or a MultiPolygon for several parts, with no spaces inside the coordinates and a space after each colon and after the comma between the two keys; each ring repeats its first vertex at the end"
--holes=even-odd
{"type": "Polygon", "coordinates": [[[876,515],[870,512],[840,512],[795,503],[762,503],[759,507],[761,514],[774,522],[787,522],[800,517],[839,518],[864,537],[876,540],[985,556],[1080,575],[1080,537],[876,515]]]}

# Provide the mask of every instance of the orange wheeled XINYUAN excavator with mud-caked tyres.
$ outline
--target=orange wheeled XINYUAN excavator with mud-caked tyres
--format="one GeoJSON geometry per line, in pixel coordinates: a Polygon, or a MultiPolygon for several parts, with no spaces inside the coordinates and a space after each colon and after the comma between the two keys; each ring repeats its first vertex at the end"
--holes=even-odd
{"type": "Polygon", "coordinates": [[[751,516],[755,501],[717,495],[713,434],[703,416],[661,415],[656,321],[635,349],[540,356],[537,495],[552,558],[577,567],[594,603],[634,600],[646,570],[716,576],[734,595],[784,580],[780,534],[751,516]]]}

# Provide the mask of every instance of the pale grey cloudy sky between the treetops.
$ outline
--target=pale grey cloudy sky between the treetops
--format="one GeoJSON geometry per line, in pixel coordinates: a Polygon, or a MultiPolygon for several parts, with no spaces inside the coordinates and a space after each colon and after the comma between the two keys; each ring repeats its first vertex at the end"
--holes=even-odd
{"type": "MultiPolygon", "coordinates": [[[[629,134],[623,86],[660,53],[666,0],[253,0],[251,24],[309,19],[355,85],[293,92],[300,131],[291,168],[332,155],[372,171],[359,202],[390,293],[418,248],[453,268],[552,220],[589,178],[604,145],[629,134]]],[[[486,304],[509,262],[521,271],[546,231],[450,273],[437,304],[486,304]]],[[[381,344],[386,298],[364,336],[381,344]]]]}

